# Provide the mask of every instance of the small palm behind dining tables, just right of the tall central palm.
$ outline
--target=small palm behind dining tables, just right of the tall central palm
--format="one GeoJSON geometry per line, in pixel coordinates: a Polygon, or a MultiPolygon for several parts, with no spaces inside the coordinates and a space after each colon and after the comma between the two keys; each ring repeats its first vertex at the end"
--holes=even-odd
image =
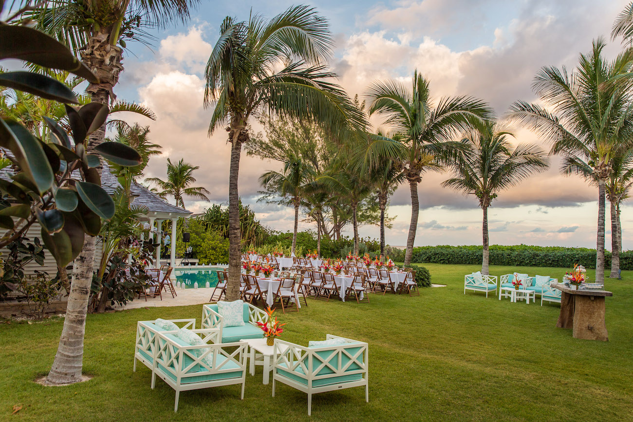
{"type": "Polygon", "coordinates": [[[299,227],[299,206],[303,199],[303,192],[306,183],[309,183],[314,177],[314,170],[308,163],[304,163],[301,158],[295,156],[289,157],[284,163],[282,173],[278,171],[266,171],[260,176],[260,184],[266,189],[264,199],[271,196],[281,196],[282,201],[279,203],[287,203],[294,206],[294,231],[292,232],[292,253],[297,246],[297,230],[299,227]],[[285,198],[289,197],[289,201],[285,198]]]}

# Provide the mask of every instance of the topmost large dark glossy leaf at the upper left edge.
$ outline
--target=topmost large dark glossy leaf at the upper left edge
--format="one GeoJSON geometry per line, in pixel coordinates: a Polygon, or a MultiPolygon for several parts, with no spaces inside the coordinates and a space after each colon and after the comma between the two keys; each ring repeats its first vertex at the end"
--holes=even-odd
{"type": "Polygon", "coordinates": [[[98,84],[99,78],[53,37],[34,28],[0,25],[0,60],[20,59],[52,69],[67,70],[98,84]]]}

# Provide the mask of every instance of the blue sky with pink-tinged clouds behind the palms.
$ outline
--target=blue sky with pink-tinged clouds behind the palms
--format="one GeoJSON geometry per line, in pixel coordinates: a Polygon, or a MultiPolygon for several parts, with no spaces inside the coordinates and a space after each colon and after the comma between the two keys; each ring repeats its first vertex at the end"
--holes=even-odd
{"type": "MultiPolygon", "coordinates": [[[[542,66],[576,65],[592,39],[609,34],[613,20],[628,1],[615,0],[424,0],[313,1],[329,20],[335,41],[329,65],[350,96],[362,95],[377,79],[409,85],[414,70],[430,79],[432,95],[470,95],[489,102],[498,115],[517,100],[536,101],[531,84],[542,66]]],[[[147,167],[147,177],[165,178],[166,159],[199,166],[196,185],[210,191],[213,203],[228,201],[230,147],[226,132],[208,136],[211,109],[203,108],[204,66],[225,16],[248,20],[249,13],[272,18],[289,1],[204,1],[186,24],[150,31],[151,48],[128,42],[115,94],[142,102],[156,121],[126,116],[149,125],[153,142],[163,147],[147,167]]],[[[610,41],[610,40],[609,40],[610,41]]],[[[609,42],[608,58],[620,51],[609,42]]],[[[372,120],[379,124],[380,121],[372,120]]],[[[254,130],[261,130],[254,125],[254,130]]],[[[515,128],[515,142],[534,142],[549,149],[547,139],[515,128]]],[[[596,247],[598,191],[576,177],[563,177],[558,158],[545,173],[500,192],[489,209],[491,244],[533,244],[596,247]]],[[[280,163],[242,154],[239,194],[261,222],[274,230],[292,230],[292,209],[257,202],[257,179],[280,163]]],[[[441,187],[447,173],[430,173],[420,183],[420,217],[415,245],[470,245],[482,239],[482,211],[477,199],[441,187]]],[[[209,202],[185,199],[187,208],[202,211],[209,202]]],[[[608,202],[607,202],[608,207],[608,202]]],[[[633,229],[633,206],[622,207],[624,249],[633,247],[626,232],[633,229]]],[[[387,244],[405,245],[411,218],[408,185],[396,190],[386,230],[387,244]]],[[[607,211],[607,215],[608,215],[607,211]]],[[[606,242],[610,245],[607,220],[606,242]]],[[[315,230],[310,223],[300,229],[315,230]]],[[[348,234],[351,232],[348,230],[348,234]]],[[[379,237],[379,228],[360,228],[361,237],[379,237]]],[[[608,249],[610,247],[608,246],[608,249]]]]}

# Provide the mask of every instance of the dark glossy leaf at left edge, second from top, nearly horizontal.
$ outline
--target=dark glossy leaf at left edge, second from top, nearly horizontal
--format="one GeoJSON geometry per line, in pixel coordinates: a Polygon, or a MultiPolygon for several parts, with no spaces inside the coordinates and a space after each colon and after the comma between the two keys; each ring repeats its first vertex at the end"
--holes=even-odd
{"type": "Polygon", "coordinates": [[[0,73],[0,86],[28,92],[53,101],[78,104],[77,97],[72,89],[56,79],[40,75],[39,73],[30,71],[0,73]]]}

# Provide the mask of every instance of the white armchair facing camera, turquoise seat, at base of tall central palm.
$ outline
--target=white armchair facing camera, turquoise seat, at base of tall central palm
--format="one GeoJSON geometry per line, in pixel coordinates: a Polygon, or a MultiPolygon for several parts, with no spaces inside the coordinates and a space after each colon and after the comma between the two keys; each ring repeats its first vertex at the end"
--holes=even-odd
{"type": "Polygon", "coordinates": [[[202,307],[202,328],[218,328],[222,343],[237,342],[242,338],[262,338],[264,333],[256,325],[266,323],[268,314],[248,302],[244,302],[244,325],[227,326],[223,324],[222,315],[218,314],[218,305],[210,304],[202,307]]]}

